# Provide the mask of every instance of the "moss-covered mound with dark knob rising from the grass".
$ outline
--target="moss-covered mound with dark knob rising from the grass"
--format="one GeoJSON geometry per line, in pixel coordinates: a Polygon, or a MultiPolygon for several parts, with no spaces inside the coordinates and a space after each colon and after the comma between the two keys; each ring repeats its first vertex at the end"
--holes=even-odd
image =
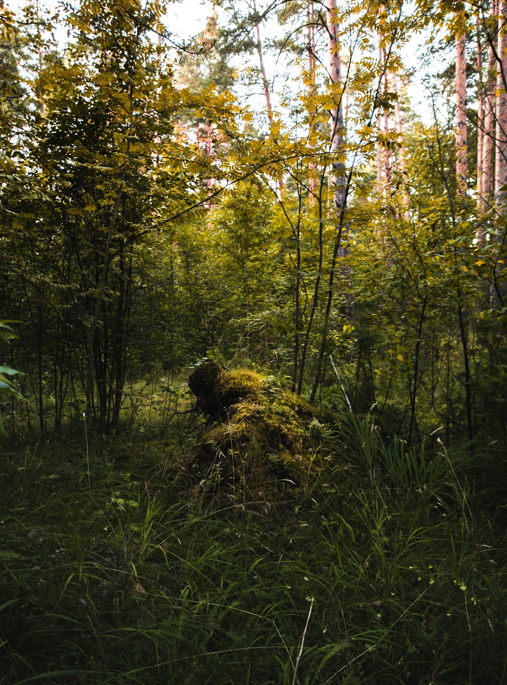
{"type": "Polygon", "coordinates": [[[310,403],[247,369],[206,362],[189,386],[208,423],[183,460],[200,492],[239,501],[277,499],[304,487],[321,423],[310,403]]]}

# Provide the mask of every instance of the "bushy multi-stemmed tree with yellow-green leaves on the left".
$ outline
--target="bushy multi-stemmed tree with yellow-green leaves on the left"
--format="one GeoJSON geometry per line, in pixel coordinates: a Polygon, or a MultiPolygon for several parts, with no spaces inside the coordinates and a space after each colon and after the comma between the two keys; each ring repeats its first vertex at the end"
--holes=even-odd
{"type": "Polygon", "coordinates": [[[211,177],[211,160],[174,138],[175,114],[199,108],[234,128],[230,97],[175,90],[151,40],[163,31],[161,8],[140,12],[119,0],[99,10],[83,3],[70,16],[75,42],[38,73],[33,88],[44,106],[19,145],[31,163],[16,192],[4,192],[5,299],[17,288],[20,318],[31,324],[23,348],[40,429],[49,379],[55,430],[69,393],[79,406],[81,385],[88,419],[103,430],[118,425],[133,359],[136,264],[157,226],[204,201],[207,192],[192,186],[211,177]]]}

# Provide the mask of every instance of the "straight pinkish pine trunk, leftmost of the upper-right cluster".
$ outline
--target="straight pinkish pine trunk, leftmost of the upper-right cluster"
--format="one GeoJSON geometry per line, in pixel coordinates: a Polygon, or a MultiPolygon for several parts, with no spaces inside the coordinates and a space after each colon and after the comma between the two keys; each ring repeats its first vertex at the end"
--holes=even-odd
{"type": "MultiPolygon", "coordinates": [[[[465,12],[460,12],[465,23],[465,12]]],[[[467,194],[467,35],[456,34],[456,185],[458,195],[467,194]]]]}

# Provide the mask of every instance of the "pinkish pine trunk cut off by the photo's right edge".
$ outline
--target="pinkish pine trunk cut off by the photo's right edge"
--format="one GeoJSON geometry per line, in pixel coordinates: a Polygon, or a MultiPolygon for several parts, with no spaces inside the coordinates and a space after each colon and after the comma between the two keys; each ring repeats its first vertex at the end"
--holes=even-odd
{"type": "Polygon", "coordinates": [[[500,214],[505,213],[507,198],[507,54],[505,29],[507,21],[506,0],[500,0],[498,8],[497,46],[497,111],[496,111],[496,154],[495,154],[495,203],[500,214]]]}

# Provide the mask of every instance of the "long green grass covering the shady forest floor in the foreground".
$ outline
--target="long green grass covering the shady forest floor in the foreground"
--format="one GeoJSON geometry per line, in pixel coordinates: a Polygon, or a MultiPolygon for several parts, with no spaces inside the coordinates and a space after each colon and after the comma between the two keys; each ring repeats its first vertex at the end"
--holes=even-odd
{"type": "Polygon", "coordinates": [[[0,683],[507,682],[506,512],[480,449],[385,445],[370,417],[322,432],[276,512],[179,492],[174,434],[12,451],[0,683]]]}

